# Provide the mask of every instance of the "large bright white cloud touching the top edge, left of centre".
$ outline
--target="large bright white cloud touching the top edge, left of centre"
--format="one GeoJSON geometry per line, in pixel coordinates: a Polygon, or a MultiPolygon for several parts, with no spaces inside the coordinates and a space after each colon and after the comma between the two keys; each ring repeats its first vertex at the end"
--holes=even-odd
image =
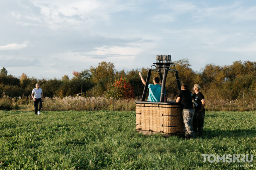
{"type": "MultiPolygon", "coordinates": [[[[35,0],[33,4],[40,8],[40,20],[49,25],[51,29],[75,27],[84,29],[99,22],[108,24],[112,14],[123,11],[134,11],[134,3],[122,3],[117,0],[74,0],[74,1],[42,1],[35,0]],[[78,26],[78,27],[76,27],[78,26]]],[[[27,17],[28,18],[28,17],[27,17]]],[[[33,20],[38,20],[32,17],[33,20]]]]}

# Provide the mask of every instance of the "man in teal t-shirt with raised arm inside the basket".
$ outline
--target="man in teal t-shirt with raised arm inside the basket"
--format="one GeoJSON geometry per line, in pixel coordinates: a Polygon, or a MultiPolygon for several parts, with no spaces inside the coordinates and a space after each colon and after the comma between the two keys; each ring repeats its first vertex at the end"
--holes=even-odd
{"type": "MultiPolygon", "coordinates": [[[[139,72],[139,75],[140,75],[142,83],[145,85],[146,82],[142,77],[142,73],[139,72]]],[[[161,88],[162,88],[161,85],[159,84],[160,83],[159,77],[154,77],[153,78],[153,83],[154,83],[154,85],[152,85],[152,84],[148,85],[148,88],[149,88],[148,101],[159,102],[160,101],[160,96],[161,96],[161,88]]],[[[164,96],[164,101],[166,101],[165,96],[164,96]]]]}

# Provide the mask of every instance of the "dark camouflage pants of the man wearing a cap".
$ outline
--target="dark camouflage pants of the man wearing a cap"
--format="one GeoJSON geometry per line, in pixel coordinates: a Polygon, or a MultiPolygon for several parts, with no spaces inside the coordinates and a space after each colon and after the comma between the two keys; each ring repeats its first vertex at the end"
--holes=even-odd
{"type": "Polygon", "coordinates": [[[198,136],[203,135],[203,124],[204,124],[205,110],[202,112],[195,112],[193,118],[193,129],[197,132],[198,136]]]}

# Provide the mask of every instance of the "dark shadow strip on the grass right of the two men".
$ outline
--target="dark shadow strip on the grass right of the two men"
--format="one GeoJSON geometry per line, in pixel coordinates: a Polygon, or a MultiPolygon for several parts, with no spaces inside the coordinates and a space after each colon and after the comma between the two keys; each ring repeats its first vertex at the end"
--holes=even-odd
{"type": "Polygon", "coordinates": [[[236,130],[204,130],[202,138],[215,138],[215,137],[255,137],[256,130],[250,129],[236,129],[236,130]]]}

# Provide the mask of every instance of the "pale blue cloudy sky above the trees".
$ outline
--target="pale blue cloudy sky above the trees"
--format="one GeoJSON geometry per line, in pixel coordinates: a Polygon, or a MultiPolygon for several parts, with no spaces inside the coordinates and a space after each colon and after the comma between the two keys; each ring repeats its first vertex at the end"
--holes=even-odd
{"type": "Polygon", "coordinates": [[[1,0],[0,23],[0,69],[16,77],[131,71],[165,54],[194,71],[256,61],[254,0],[1,0]]]}

